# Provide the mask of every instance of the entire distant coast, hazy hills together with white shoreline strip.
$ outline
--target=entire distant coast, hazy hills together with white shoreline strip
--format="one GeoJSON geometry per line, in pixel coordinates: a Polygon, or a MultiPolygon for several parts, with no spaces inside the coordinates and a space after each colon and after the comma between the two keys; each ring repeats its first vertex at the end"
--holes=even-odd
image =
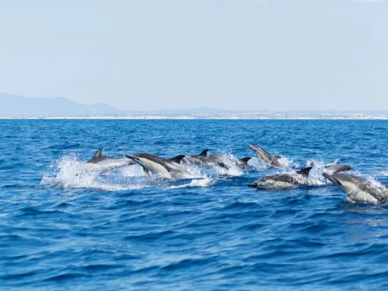
{"type": "Polygon", "coordinates": [[[225,110],[207,107],[165,110],[125,110],[105,103],[85,105],[69,99],[27,98],[0,93],[0,119],[388,119],[388,111],[269,111],[225,110]]]}

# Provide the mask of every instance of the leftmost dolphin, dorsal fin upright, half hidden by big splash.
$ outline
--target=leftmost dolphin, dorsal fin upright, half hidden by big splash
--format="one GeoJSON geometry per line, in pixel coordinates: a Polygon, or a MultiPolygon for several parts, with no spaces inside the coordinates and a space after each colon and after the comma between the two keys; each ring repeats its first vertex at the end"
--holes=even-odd
{"type": "Polygon", "coordinates": [[[102,155],[103,148],[98,149],[93,158],[85,163],[86,170],[109,171],[119,167],[134,165],[135,162],[128,158],[112,158],[102,155]]]}

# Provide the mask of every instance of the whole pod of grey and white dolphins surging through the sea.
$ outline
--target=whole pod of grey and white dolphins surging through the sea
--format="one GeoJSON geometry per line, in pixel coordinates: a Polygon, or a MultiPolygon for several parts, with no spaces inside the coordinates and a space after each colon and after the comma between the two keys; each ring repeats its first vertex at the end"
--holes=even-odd
{"type": "MultiPolygon", "coordinates": [[[[285,169],[289,168],[282,164],[280,156],[271,155],[261,147],[249,144],[259,161],[268,168],[285,169]]],[[[98,170],[101,172],[110,171],[116,168],[138,164],[142,167],[147,176],[157,174],[169,180],[195,178],[190,172],[181,166],[182,161],[200,167],[221,167],[229,170],[230,167],[240,169],[257,169],[248,164],[252,157],[231,159],[224,156],[208,154],[209,150],[202,151],[199,155],[179,155],[171,159],[165,159],[148,153],[136,153],[125,155],[124,158],[115,158],[102,155],[103,148],[100,148],[94,156],[85,163],[86,170],[98,170]]],[[[256,189],[289,188],[309,184],[309,173],[313,168],[306,167],[299,171],[273,174],[261,177],[248,187],[256,189]]],[[[388,203],[388,185],[384,186],[376,181],[369,181],[355,175],[343,172],[353,170],[350,165],[327,165],[323,167],[322,176],[329,180],[345,193],[346,199],[350,202],[362,203],[388,203]]],[[[326,180],[326,181],[327,181],[326,180]]]]}

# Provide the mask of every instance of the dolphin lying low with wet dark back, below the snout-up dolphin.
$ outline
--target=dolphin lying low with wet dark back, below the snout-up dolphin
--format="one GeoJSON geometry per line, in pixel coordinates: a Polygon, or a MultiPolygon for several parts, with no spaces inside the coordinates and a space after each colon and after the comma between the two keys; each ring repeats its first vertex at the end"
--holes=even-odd
{"type": "Polygon", "coordinates": [[[252,184],[248,184],[248,187],[257,189],[275,189],[275,188],[288,188],[295,187],[306,183],[309,177],[309,172],[313,167],[307,167],[298,171],[296,174],[277,174],[265,176],[257,179],[252,184]]]}

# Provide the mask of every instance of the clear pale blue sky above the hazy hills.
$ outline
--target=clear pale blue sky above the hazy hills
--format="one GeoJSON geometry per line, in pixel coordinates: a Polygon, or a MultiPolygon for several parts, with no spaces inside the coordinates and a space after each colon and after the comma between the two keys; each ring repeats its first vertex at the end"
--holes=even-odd
{"type": "Polygon", "coordinates": [[[388,3],[0,0],[0,92],[137,110],[387,110],[388,3]]]}

